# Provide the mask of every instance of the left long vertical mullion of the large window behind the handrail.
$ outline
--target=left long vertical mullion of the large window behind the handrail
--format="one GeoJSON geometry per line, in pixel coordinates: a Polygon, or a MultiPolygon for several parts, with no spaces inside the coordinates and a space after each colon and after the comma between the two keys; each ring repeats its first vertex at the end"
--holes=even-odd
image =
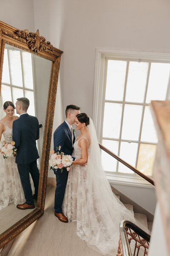
{"type": "MultiPolygon", "coordinates": [[[[119,134],[118,156],[120,155],[120,143],[121,143],[121,138],[122,138],[122,125],[123,125],[123,115],[124,115],[124,109],[125,109],[125,96],[126,96],[126,85],[127,85],[128,71],[129,71],[129,61],[127,61],[127,66],[126,66],[125,87],[124,87],[123,102],[122,102],[122,117],[121,117],[120,134],[119,134]]],[[[119,168],[119,163],[117,161],[116,172],[118,172],[118,168],[119,168]]]]}

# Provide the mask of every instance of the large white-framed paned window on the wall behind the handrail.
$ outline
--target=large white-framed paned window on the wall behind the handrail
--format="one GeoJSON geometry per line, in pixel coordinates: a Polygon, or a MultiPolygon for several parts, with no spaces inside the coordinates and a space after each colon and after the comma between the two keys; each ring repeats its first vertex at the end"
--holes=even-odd
{"type": "MultiPolygon", "coordinates": [[[[99,142],[145,175],[152,176],[158,142],[151,100],[169,98],[170,58],[146,53],[97,52],[94,121],[99,142]],[[101,104],[102,102],[102,104],[101,104]],[[97,125],[97,124],[101,125],[97,125]]],[[[136,174],[102,151],[106,172],[136,174]]]]}

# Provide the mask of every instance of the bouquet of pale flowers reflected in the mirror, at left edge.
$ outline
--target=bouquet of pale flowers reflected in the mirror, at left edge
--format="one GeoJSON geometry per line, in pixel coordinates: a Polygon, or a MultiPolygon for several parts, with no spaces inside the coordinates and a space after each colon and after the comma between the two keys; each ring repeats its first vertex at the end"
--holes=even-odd
{"type": "Polygon", "coordinates": [[[6,142],[5,140],[0,145],[0,153],[3,154],[3,158],[8,157],[16,157],[17,156],[17,148],[15,148],[14,141],[6,142]]]}

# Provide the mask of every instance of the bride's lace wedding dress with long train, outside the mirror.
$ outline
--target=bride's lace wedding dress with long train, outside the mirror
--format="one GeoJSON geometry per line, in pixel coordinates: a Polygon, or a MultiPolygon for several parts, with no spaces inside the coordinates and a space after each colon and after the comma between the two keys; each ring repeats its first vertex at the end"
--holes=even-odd
{"type": "MultiPolygon", "coordinates": [[[[82,157],[78,142],[74,143],[76,158],[82,157]]],[[[91,155],[86,166],[71,168],[62,210],[68,221],[77,221],[77,235],[103,255],[116,256],[120,221],[128,219],[136,223],[133,212],[116,198],[108,181],[94,168],[91,155]]]]}

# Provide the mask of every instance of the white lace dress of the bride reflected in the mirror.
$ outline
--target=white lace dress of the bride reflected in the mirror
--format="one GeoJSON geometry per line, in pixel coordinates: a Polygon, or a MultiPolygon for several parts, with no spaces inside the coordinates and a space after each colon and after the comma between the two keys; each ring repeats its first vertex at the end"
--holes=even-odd
{"type": "MultiPolygon", "coordinates": [[[[3,132],[5,141],[11,142],[12,129],[3,121],[0,122],[2,122],[6,127],[6,131],[3,132]]],[[[33,190],[34,185],[31,184],[31,187],[33,190]]],[[[17,204],[23,204],[25,201],[26,199],[17,164],[15,163],[15,157],[8,157],[7,159],[4,159],[3,154],[0,153],[0,210],[7,207],[10,203],[14,202],[17,206],[17,204]]]]}

